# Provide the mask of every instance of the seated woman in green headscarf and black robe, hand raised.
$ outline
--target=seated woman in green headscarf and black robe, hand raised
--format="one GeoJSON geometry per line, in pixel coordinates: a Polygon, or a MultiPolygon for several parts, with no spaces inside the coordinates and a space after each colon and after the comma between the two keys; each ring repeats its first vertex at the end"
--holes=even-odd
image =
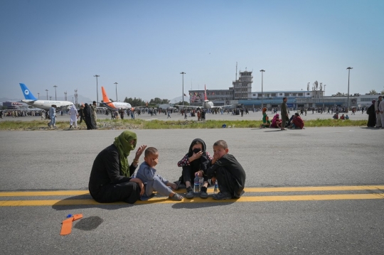
{"type": "Polygon", "coordinates": [[[131,178],[137,168],[139,158],[146,148],[140,146],[129,166],[127,157],[134,150],[137,135],[124,131],[114,139],[114,143],[102,150],[93,162],[90,183],[90,195],[97,202],[124,201],[133,204],[144,193],[144,184],[138,178],[131,178]]]}

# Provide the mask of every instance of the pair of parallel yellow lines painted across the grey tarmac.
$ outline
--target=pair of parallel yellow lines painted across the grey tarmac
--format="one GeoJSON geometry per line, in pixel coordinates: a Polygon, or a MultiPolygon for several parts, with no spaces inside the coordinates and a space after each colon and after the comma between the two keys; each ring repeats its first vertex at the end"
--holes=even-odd
{"type": "MultiPolygon", "coordinates": [[[[183,190],[179,190],[182,192],[183,190]]],[[[183,203],[191,202],[277,202],[277,201],[309,201],[309,200],[374,200],[384,199],[384,185],[361,186],[320,186],[320,187],[279,187],[279,188],[245,188],[245,195],[237,200],[213,200],[194,197],[191,200],[183,199],[183,203]],[[329,194],[329,195],[261,195],[250,196],[249,193],[262,192],[314,192],[314,191],[365,191],[358,194],[329,194]],[[375,191],[375,192],[373,192],[375,191]]],[[[213,189],[209,188],[208,193],[213,189]]],[[[27,191],[27,192],[0,192],[0,206],[53,206],[53,205],[102,205],[90,199],[62,199],[62,200],[4,200],[9,197],[44,197],[44,196],[79,196],[90,195],[87,190],[59,190],[59,191],[27,191]]],[[[138,201],[138,204],[176,203],[166,197],[154,197],[148,201],[138,201]]],[[[112,205],[126,205],[124,202],[115,202],[112,205]]]]}

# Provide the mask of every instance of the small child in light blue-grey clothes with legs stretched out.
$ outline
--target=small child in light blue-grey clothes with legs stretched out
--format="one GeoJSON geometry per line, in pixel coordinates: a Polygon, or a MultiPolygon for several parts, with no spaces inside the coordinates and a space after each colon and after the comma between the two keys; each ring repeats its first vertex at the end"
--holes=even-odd
{"type": "Polygon", "coordinates": [[[140,200],[148,200],[154,191],[159,192],[161,195],[168,196],[171,200],[182,200],[184,198],[183,196],[178,195],[171,190],[171,188],[178,190],[178,185],[169,183],[168,180],[156,174],[156,169],[154,167],[157,163],[159,163],[159,152],[157,149],[154,147],[146,148],[144,162],[140,165],[136,174],[136,178],[142,180],[145,186],[144,195],[140,197],[140,200]]]}

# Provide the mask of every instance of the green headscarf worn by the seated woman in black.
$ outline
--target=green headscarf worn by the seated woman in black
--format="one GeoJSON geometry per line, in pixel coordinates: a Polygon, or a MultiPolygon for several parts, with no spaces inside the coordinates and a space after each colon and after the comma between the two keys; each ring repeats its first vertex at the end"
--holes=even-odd
{"type": "Polygon", "coordinates": [[[132,131],[124,131],[122,134],[114,138],[114,146],[117,147],[119,151],[120,163],[122,165],[122,175],[129,177],[129,164],[128,164],[128,155],[130,151],[133,151],[136,147],[137,135],[132,131]],[[135,143],[132,144],[132,140],[135,140],[135,143]]]}

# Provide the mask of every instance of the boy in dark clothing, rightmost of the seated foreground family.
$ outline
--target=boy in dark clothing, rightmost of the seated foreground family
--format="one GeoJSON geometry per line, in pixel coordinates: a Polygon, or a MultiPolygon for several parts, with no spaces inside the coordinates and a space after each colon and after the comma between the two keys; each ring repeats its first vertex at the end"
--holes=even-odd
{"type": "Polygon", "coordinates": [[[215,200],[239,198],[244,190],[245,171],[233,155],[228,154],[227,142],[216,141],[213,144],[213,159],[207,169],[208,178],[218,180],[220,192],[213,195],[215,200]]]}

